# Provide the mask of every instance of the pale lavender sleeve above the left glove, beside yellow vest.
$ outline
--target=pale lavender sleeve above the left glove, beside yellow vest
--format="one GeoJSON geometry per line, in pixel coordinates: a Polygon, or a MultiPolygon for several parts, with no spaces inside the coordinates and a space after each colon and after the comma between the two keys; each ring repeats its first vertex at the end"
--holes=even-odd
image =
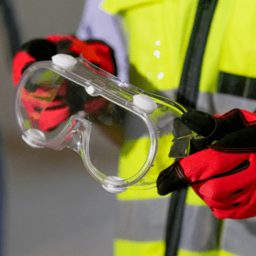
{"type": "Polygon", "coordinates": [[[84,12],[77,31],[81,40],[97,39],[110,45],[115,53],[118,77],[128,80],[127,38],[119,15],[108,15],[101,9],[100,0],[86,0],[84,12]]]}

